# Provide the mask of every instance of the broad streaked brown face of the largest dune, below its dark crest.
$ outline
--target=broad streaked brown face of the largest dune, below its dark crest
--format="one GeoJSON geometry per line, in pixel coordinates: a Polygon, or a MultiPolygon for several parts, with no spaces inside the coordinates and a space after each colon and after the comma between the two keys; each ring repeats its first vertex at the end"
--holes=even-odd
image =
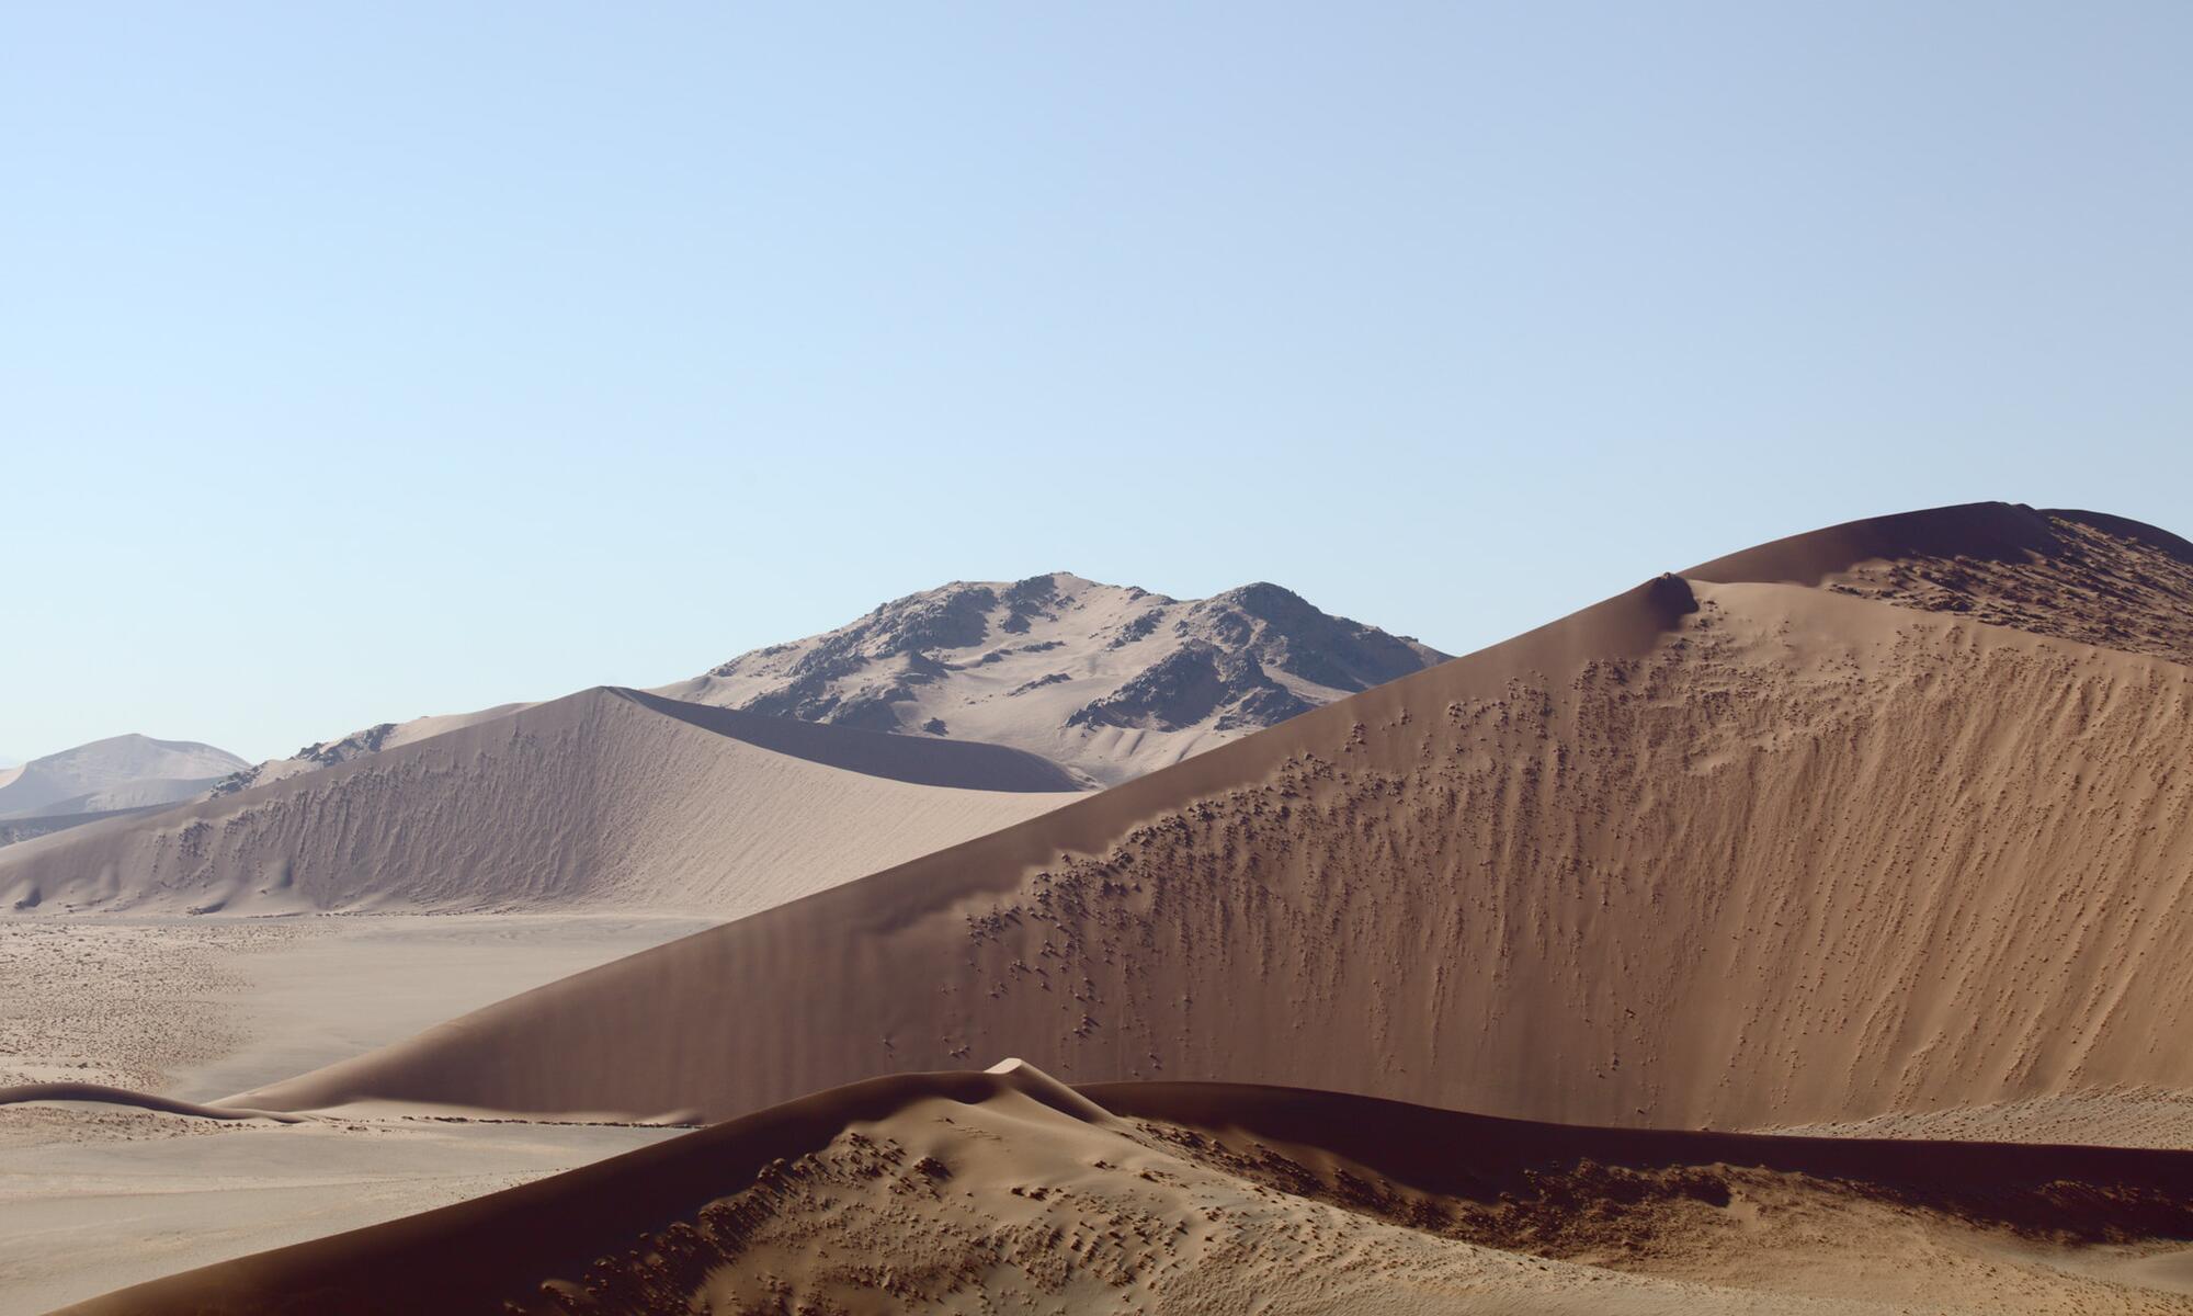
{"type": "Polygon", "coordinates": [[[2193,1090],[2189,702],[2156,656],[1669,577],[243,1101],[728,1116],[1015,1053],[1651,1127],[2061,1097],[2107,1141],[2112,1094],[2193,1090]]]}

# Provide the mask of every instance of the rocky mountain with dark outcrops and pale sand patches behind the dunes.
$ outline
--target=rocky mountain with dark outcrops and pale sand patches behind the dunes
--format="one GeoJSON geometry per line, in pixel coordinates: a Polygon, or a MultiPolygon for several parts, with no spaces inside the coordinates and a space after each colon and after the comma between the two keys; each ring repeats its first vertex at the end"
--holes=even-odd
{"type": "Polygon", "coordinates": [[[908,594],[658,693],[1013,746],[1112,785],[1445,658],[1272,583],[1167,599],[1053,572],[908,594]]]}

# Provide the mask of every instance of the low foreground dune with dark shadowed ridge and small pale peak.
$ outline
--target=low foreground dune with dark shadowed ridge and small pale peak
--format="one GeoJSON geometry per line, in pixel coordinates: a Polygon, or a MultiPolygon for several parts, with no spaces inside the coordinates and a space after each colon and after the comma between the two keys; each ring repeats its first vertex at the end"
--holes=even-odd
{"type": "Polygon", "coordinates": [[[68,1312],[2182,1312],[2189,1184],[2193,1152],[1075,1092],[1011,1062],[820,1092],[68,1312]]]}

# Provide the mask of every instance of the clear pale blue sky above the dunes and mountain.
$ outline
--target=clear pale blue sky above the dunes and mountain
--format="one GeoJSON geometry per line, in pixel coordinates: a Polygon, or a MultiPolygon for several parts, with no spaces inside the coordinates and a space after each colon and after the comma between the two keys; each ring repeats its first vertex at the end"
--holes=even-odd
{"type": "Polygon", "coordinates": [[[11,4],[0,752],[945,579],[1465,651],[1974,498],[2193,533],[2193,7],[11,4]]]}

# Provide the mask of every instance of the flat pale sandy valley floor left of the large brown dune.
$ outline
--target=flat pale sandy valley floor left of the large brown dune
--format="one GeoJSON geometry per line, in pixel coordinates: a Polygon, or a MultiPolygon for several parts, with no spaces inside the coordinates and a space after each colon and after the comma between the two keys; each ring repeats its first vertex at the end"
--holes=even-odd
{"type": "MultiPolygon", "coordinates": [[[[0,919],[0,1086],[215,1099],[682,937],[623,917],[0,919]]],[[[0,1316],[355,1228],[675,1130],[0,1108],[0,1316]]]]}

